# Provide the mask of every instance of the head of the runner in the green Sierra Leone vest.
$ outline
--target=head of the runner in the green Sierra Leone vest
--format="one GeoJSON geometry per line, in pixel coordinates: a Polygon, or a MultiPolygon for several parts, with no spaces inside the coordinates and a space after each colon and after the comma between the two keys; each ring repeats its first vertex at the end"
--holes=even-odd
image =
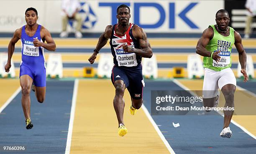
{"type": "Polygon", "coordinates": [[[220,12],[216,15],[216,24],[218,25],[218,28],[222,31],[226,31],[229,24],[229,16],[228,13],[220,12]]]}

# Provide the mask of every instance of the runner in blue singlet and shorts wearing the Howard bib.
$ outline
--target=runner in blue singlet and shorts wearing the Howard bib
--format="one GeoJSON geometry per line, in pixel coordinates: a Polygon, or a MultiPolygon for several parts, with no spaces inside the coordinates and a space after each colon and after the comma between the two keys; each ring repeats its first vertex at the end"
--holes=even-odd
{"type": "Polygon", "coordinates": [[[44,102],[46,93],[44,48],[55,51],[56,45],[50,32],[36,23],[38,14],[35,8],[30,7],[26,10],[25,19],[27,25],[15,30],[8,45],[8,62],[5,65],[5,72],[10,70],[15,43],[20,40],[22,45],[22,60],[20,63],[21,104],[26,119],[26,129],[31,129],[33,128],[30,119],[31,85],[34,84],[33,89],[38,102],[44,102]],[[47,43],[44,43],[45,41],[47,43]]]}

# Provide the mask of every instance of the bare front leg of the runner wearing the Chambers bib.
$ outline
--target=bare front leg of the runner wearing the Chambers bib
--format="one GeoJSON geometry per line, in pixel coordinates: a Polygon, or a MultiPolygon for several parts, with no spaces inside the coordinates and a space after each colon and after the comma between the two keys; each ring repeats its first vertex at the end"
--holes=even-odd
{"type": "Polygon", "coordinates": [[[125,107],[125,102],[123,99],[123,94],[125,92],[125,83],[123,80],[116,80],[114,83],[115,86],[115,97],[113,100],[115,113],[118,118],[118,127],[119,124],[123,124],[123,109],[125,107]]]}

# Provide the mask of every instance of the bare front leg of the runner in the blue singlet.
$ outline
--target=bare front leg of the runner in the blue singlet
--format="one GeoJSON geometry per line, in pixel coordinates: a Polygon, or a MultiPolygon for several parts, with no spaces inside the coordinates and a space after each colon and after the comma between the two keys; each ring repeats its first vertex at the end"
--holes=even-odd
{"type": "Polygon", "coordinates": [[[29,75],[20,76],[21,104],[26,119],[30,117],[30,91],[33,79],[29,75]]]}

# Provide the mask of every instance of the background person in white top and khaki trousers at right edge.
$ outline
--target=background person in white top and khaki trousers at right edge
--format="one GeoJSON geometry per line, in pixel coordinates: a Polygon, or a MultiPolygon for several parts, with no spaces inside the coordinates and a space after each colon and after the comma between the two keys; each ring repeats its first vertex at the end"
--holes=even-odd
{"type": "Polygon", "coordinates": [[[249,38],[251,34],[251,23],[256,15],[256,0],[246,0],[246,27],[244,29],[244,38],[249,38]]]}

